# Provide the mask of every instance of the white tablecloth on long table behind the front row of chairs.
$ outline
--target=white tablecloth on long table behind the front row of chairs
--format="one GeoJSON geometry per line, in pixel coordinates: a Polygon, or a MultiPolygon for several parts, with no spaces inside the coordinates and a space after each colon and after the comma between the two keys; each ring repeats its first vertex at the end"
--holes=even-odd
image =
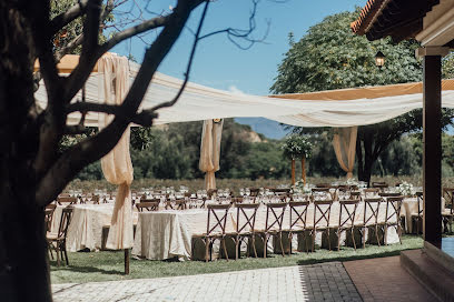
{"type": "MultiPolygon", "coordinates": [[[[314,204],[308,207],[307,225],[314,224],[314,204]]],[[[329,217],[329,225],[338,225],[340,203],[334,202],[329,217]]],[[[276,209],[279,211],[279,209],[276,209]]],[[[289,207],[286,208],[284,214],[284,229],[289,228],[289,207]]],[[[150,260],[164,260],[170,258],[189,259],[191,253],[191,238],[194,234],[203,234],[207,232],[207,210],[169,210],[158,212],[139,213],[132,254],[144,256],[150,260]]],[[[355,219],[357,222],[363,221],[364,203],[358,204],[355,219]]],[[[381,203],[379,222],[385,221],[386,203],[381,203]]],[[[346,218],[343,211],[343,219],[346,218]]],[[[295,219],[295,218],[294,218],[295,219]]],[[[255,229],[257,231],[265,229],[266,207],[260,205],[257,211],[255,229]]],[[[236,209],[229,210],[226,231],[235,230],[236,209]]],[[[326,223],[325,223],[326,224],[326,223]]],[[[318,224],[318,225],[323,225],[318,224]]],[[[317,240],[319,241],[319,240],[317,240]]],[[[389,228],[387,234],[388,243],[398,242],[397,233],[393,228],[389,228]]]]}

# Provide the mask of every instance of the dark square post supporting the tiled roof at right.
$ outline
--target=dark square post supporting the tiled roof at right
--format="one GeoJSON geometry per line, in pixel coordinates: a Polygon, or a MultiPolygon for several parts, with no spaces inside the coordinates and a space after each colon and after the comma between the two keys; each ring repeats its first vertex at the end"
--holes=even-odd
{"type": "Polygon", "coordinates": [[[424,240],[442,244],[442,57],[424,56],[423,179],[424,240]]]}

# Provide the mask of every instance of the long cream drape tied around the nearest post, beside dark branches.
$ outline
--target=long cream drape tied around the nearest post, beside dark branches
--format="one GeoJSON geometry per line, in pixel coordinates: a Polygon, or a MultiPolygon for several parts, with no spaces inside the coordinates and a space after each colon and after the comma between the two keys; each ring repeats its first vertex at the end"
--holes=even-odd
{"type": "MultiPolygon", "coordinates": [[[[129,66],[125,57],[106,54],[98,61],[102,73],[100,87],[102,99],[108,104],[121,104],[129,89],[129,66]]],[[[103,114],[100,128],[108,125],[114,115],[103,114]]],[[[101,159],[102,173],[108,182],[117,184],[112,219],[106,248],[112,250],[129,249],[134,245],[131,192],[132,163],[129,154],[130,129],[125,131],[117,145],[101,159]]]]}

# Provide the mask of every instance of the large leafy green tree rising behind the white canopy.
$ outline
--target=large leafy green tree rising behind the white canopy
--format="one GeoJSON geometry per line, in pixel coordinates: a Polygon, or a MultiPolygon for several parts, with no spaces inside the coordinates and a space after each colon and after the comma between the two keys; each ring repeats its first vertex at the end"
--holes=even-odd
{"type": "MultiPolygon", "coordinates": [[[[278,67],[272,92],[296,93],[421,81],[422,63],[415,58],[415,49],[420,44],[416,41],[396,44],[389,38],[371,42],[365,36],[353,34],[349,23],[357,19],[359,11],[325,18],[298,42],[290,33],[290,49],[278,67]],[[381,69],[375,66],[378,51],[386,56],[386,63],[381,69]]],[[[448,73],[447,70],[445,74],[448,73]]],[[[452,111],[445,111],[443,127],[451,123],[451,118],[452,111]]],[[[368,182],[373,164],[386,147],[403,133],[421,128],[422,110],[359,127],[356,145],[358,179],[368,182]]],[[[310,129],[296,131],[317,132],[310,129]]]]}

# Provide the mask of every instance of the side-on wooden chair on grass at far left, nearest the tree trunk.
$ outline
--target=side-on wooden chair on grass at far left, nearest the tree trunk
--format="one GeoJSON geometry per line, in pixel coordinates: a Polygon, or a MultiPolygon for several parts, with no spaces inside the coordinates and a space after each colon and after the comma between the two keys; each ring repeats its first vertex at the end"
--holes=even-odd
{"type": "Polygon", "coordinates": [[[46,235],[48,241],[48,248],[53,260],[52,249],[56,251],[57,254],[57,265],[60,266],[60,255],[61,260],[66,259],[67,265],[69,265],[68,253],[66,250],[66,239],[68,234],[68,226],[71,223],[72,218],[72,207],[67,207],[62,210],[60,224],[58,226],[57,234],[48,233],[46,235]]]}

